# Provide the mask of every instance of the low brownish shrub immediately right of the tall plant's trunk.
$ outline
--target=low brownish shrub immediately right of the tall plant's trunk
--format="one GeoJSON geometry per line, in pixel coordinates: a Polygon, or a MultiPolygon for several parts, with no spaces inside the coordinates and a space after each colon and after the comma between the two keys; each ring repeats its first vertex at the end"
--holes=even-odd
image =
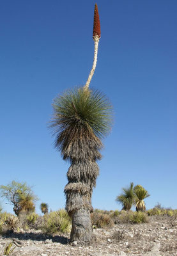
{"type": "Polygon", "coordinates": [[[99,213],[96,211],[91,214],[91,223],[94,228],[112,227],[114,224],[109,214],[99,213]]]}

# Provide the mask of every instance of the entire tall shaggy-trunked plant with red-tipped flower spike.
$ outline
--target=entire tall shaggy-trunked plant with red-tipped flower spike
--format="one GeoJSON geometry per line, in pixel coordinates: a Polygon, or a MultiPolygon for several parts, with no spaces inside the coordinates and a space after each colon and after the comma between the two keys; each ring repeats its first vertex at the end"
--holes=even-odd
{"type": "Polygon", "coordinates": [[[51,127],[56,135],[55,147],[71,166],[65,186],[66,211],[72,218],[71,241],[89,242],[92,236],[90,213],[91,195],[98,176],[97,160],[101,159],[101,139],[109,132],[111,104],[97,90],[89,90],[96,67],[100,20],[95,4],[93,40],[95,56],[93,68],[84,87],[67,90],[54,100],[51,127]]]}

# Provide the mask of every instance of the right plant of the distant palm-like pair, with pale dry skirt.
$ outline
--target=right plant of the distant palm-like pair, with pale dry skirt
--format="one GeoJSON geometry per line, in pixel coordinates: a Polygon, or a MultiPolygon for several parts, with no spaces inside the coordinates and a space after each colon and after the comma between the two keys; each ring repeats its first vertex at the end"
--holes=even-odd
{"type": "Polygon", "coordinates": [[[141,185],[137,185],[134,188],[135,193],[135,207],[136,211],[145,211],[146,204],[144,203],[144,199],[150,196],[148,191],[144,189],[141,185]]]}

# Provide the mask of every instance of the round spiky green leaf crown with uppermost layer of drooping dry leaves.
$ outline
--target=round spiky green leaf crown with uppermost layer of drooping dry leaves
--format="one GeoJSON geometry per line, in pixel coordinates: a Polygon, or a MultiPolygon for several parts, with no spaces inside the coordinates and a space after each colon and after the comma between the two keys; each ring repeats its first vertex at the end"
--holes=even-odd
{"type": "Polygon", "coordinates": [[[83,87],[67,90],[54,99],[50,125],[56,135],[55,147],[63,159],[100,159],[100,148],[111,129],[111,104],[98,90],[83,87]]]}

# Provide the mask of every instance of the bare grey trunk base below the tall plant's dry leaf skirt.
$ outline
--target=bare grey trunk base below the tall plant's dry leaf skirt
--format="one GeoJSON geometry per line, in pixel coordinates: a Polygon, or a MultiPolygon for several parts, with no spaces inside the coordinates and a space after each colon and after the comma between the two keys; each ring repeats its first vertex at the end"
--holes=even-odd
{"type": "Polygon", "coordinates": [[[72,232],[71,241],[77,243],[90,242],[92,236],[92,225],[90,211],[82,207],[72,212],[72,232]]]}

